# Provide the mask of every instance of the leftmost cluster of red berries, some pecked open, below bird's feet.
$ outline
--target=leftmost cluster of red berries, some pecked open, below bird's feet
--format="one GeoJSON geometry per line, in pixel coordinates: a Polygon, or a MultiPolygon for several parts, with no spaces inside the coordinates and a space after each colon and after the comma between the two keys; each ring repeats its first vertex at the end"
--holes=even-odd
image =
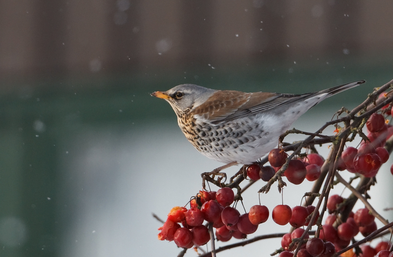
{"type": "Polygon", "coordinates": [[[190,209],[173,207],[158,239],[174,241],[182,248],[200,246],[210,240],[208,228],[203,222],[213,223],[218,240],[226,242],[233,237],[246,238],[258,225],[267,221],[269,209],[264,205],[254,205],[248,213],[240,215],[236,208],[230,207],[235,195],[232,189],[225,187],[217,192],[199,191],[191,200],[190,209]],[[180,224],[182,224],[182,227],[180,224]]]}

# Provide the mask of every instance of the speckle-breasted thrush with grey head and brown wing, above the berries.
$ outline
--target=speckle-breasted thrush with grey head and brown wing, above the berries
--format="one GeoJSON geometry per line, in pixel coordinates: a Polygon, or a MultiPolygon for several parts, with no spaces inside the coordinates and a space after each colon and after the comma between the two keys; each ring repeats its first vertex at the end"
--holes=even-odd
{"type": "Polygon", "coordinates": [[[363,83],[306,94],[245,93],[184,84],[151,95],[172,106],[181,131],[203,155],[225,164],[252,164],[311,107],[363,83]]]}

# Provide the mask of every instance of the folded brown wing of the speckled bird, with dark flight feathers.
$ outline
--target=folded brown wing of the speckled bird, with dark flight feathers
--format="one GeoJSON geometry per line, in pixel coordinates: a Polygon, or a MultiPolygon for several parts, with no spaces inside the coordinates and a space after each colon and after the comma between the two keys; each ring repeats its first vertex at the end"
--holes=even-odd
{"type": "Polygon", "coordinates": [[[198,106],[193,114],[209,123],[220,124],[250,114],[263,113],[309,95],[218,91],[204,104],[198,106]]]}

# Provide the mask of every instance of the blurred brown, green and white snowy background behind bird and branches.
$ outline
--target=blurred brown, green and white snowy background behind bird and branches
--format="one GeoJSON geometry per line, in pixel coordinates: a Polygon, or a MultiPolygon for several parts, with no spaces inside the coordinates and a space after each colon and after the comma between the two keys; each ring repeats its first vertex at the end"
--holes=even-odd
{"type": "MultiPolygon", "coordinates": [[[[366,0],[0,0],[0,256],[176,256],[151,213],[166,219],[221,164],[149,94],[185,83],[304,93],[367,81],[295,123],[316,130],[393,79],[392,10],[366,0]]],[[[369,194],[386,196],[372,203],[392,220],[390,165],[369,194]]],[[[262,185],[246,191],[246,209],[262,185]]],[[[300,204],[303,191],[288,185],[284,202],[300,204]]],[[[281,195],[273,187],[261,201],[273,209],[281,195]]],[[[255,234],[288,229],[269,219],[255,234]]],[[[269,239],[219,256],[278,248],[269,239]]]]}

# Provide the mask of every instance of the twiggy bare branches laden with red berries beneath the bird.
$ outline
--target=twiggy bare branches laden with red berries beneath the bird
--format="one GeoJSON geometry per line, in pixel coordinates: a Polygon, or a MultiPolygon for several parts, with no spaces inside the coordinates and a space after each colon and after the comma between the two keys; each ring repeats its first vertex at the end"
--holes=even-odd
{"type": "MultiPolygon", "coordinates": [[[[314,133],[288,130],[281,135],[279,148],[272,149],[257,163],[243,166],[228,182],[223,170],[233,166],[232,163],[202,173],[202,190],[192,198],[188,209],[177,206],[170,210],[168,219],[159,228],[158,238],[174,241],[184,249],[202,246],[210,241],[211,252],[202,255],[206,257],[215,257],[217,252],[272,237],[281,237],[281,248],[272,254],[279,257],[393,257],[390,242],[381,241],[375,248],[366,244],[389,231],[393,233],[393,223],[389,223],[367,200],[367,191],[375,185],[376,174],[393,150],[392,105],[393,80],[376,88],[353,110],[342,108],[334,115],[335,119],[326,122],[314,133]],[[335,135],[324,134],[330,126],[335,127],[335,135]],[[368,130],[367,135],[363,133],[364,126],[368,130]],[[283,142],[287,135],[294,133],[306,135],[307,138],[294,143],[283,142]],[[360,145],[346,146],[357,137],[361,137],[360,145]],[[315,149],[315,145],[322,144],[330,147],[326,160],[315,149]],[[341,172],[351,172],[354,177],[345,180],[341,172]],[[286,186],[283,177],[295,185],[305,179],[314,181],[304,196],[302,206],[291,208],[282,203],[272,210],[273,221],[280,226],[289,223],[291,230],[246,239],[247,235],[257,230],[259,224],[268,220],[270,211],[260,202],[248,212],[244,206],[239,211],[237,207],[243,205],[242,193],[259,180],[266,184],[258,193],[268,193],[276,182],[281,192],[286,186]],[[358,184],[354,186],[358,178],[358,184]],[[207,191],[206,183],[214,184],[219,189],[217,192],[207,191]],[[337,183],[351,191],[348,198],[330,194],[337,183]],[[236,193],[233,189],[236,189],[236,193]],[[316,199],[315,205],[312,205],[316,199]],[[357,200],[361,200],[365,208],[353,210],[357,200]],[[322,224],[324,215],[327,217],[322,224]],[[378,229],[375,218],[385,226],[378,229]],[[312,231],[312,227],[315,230],[312,231]],[[356,241],[354,237],[359,232],[364,238],[356,241]],[[226,242],[232,237],[242,241],[215,249],[215,240],[226,242]]],[[[391,172],[393,175],[393,166],[391,172]]],[[[185,252],[183,250],[179,256],[185,252]]]]}

